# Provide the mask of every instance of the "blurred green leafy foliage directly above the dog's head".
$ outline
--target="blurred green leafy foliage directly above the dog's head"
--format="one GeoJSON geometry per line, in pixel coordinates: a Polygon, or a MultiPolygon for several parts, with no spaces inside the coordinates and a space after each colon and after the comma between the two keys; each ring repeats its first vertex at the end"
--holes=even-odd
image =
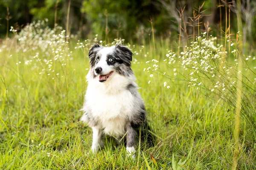
{"type": "Polygon", "coordinates": [[[150,18],[160,11],[153,0],[86,0],[81,11],[94,34],[105,37],[133,37],[140,27],[150,27],[150,18]]]}

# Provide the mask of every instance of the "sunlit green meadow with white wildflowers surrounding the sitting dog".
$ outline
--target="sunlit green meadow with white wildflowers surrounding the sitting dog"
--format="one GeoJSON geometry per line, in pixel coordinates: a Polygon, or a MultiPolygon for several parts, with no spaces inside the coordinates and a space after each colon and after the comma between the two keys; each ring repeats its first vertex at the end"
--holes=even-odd
{"type": "Polygon", "coordinates": [[[232,168],[236,144],[237,168],[256,168],[256,59],[244,56],[239,67],[236,37],[226,50],[208,33],[179,48],[168,39],[78,41],[45,21],[11,31],[0,45],[0,169],[224,170],[232,168]],[[134,53],[132,69],[157,137],[154,147],[137,148],[136,159],[112,142],[90,152],[92,131],[79,110],[94,42],[123,42],[134,53]],[[238,143],[237,71],[244,79],[238,143]]]}

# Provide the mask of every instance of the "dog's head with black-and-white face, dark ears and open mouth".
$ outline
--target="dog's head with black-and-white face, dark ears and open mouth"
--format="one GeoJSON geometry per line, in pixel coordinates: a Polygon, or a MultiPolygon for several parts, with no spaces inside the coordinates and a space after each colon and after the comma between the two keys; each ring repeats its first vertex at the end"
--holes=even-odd
{"type": "Polygon", "coordinates": [[[94,44],[89,50],[89,59],[91,74],[93,78],[99,79],[99,82],[111,79],[113,74],[132,74],[132,52],[119,44],[111,47],[94,44]]]}

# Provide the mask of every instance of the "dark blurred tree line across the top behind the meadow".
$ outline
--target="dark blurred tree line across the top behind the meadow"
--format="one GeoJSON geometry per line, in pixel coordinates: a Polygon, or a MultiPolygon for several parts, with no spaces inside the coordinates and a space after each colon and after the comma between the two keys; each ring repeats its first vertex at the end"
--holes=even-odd
{"type": "MultiPolygon", "coordinates": [[[[9,20],[8,29],[10,26],[23,27],[33,20],[45,18],[48,18],[50,27],[54,27],[54,23],[57,23],[65,28],[67,13],[69,14],[68,31],[71,34],[78,34],[80,38],[94,34],[105,37],[107,34],[106,37],[110,38],[140,40],[141,37],[151,34],[149,22],[151,19],[156,35],[175,37],[177,33],[180,33],[181,13],[183,13],[184,26],[186,25],[185,31],[191,35],[192,20],[198,19],[200,22],[207,23],[207,28],[209,26],[220,27],[220,25],[224,27],[226,7],[227,10],[231,8],[230,23],[236,23],[235,3],[235,1],[231,3],[231,0],[0,0],[0,18],[2,19],[0,20],[0,35],[2,37],[6,35],[7,20],[9,20]],[[204,5],[197,18],[198,8],[202,4],[204,5]]],[[[256,21],[254,17],[256,3],[253,0],[244,0],[242,6],[244,8],[243,22],[248,27],[248,33],[254,35],[256,33],[256,28],[253,27],[256,21]]],[[[200,23],[200,28],[206,29],[206,25],[200,23]]],[[[233,24],[231,32],[234,32],[234,29],[236,29],[236,24],[233,24]]],[[[247,34],[247,37],[252,36],[247,34]]]]}

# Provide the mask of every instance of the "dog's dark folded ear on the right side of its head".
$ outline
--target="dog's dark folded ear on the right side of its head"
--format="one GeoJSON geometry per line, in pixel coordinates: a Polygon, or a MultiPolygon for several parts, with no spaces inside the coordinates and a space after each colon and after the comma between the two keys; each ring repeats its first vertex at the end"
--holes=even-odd
{"type": "Polygon", "coordinates": [[[129,48],[122,46],[121,44],[116,44],[116,49],[119,51],[119,57],[123,60],[125,65],[131,65],[132,52],[129,48]]]}

